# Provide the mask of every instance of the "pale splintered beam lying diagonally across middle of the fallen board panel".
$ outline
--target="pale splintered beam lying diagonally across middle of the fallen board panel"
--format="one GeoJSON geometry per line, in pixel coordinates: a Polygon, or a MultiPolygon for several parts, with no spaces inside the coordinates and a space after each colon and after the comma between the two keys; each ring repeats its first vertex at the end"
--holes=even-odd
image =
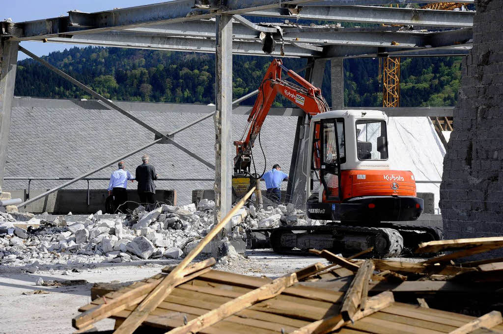
{"type": "Polygon", "coordinates": [[[295,273],[285,275],[277,278],[271,283],[261,286],[258,289],[251,290],[235,299],[232,299],[219,307],[198,316],[195,319],[187,322],[186,325],[173,328],[166,332],[166,334],[190,334],[197,333],[198,331],[207,328],[215,323],[240,312],[251,305],[266,299],[276,297],[281,294],[287,287],[292,286],[297,282],[297,275],[295,273]]]}

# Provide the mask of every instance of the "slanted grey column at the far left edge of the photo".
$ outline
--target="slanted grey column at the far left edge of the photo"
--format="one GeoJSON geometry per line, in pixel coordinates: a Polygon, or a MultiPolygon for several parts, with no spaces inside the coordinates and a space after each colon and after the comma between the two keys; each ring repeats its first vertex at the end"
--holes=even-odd
{"type": "Polygon", "coordinates": [[[4,186],[7,144],[11,127],[12,100],[19,42],[0,42],[0,186],[4,186]]]}

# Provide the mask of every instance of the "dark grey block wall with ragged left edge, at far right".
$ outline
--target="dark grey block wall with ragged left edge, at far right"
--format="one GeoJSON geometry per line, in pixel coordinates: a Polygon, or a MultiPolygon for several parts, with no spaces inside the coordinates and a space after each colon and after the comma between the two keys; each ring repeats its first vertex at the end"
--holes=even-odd
{"type": "Polygon", "coordinates": [[[503,236],[503,1],[475,7],[440,186],[448,239],[503,236]]]}

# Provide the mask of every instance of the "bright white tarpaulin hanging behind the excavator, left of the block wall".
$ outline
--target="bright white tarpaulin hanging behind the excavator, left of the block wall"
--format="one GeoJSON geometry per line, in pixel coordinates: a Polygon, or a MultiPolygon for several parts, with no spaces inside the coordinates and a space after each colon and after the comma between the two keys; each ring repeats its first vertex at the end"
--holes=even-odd
{"type": "MultiPolygon", "coordinates": [[[[441,181],[445,149],[428,117],[388,119],[390,169],[409,170],[416,181],[441,181]]],[[[439,209],[440,183],[416,183],[417,192],[435,194],[439,209]]]]}

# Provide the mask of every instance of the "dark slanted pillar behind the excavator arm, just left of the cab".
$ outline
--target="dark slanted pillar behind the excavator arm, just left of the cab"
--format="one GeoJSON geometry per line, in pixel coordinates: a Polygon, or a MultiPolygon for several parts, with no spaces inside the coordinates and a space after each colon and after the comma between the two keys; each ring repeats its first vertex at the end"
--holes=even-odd
{"type": "MultiPolygon", "coordinates": [[[[316,87],[323,84],[326,60],[316,59],[311,61],[306,69],[305,78],[316,87]]],[[[322,92],[323,93],[323,92],[322,92]]],[[[310,159],[309,151],[309,119],[307,115],[299,117],[295,132],[292,161],[287,187],[287,199],[299,209],[304,209],[306,204],[306,182],[310,159]]]]}

